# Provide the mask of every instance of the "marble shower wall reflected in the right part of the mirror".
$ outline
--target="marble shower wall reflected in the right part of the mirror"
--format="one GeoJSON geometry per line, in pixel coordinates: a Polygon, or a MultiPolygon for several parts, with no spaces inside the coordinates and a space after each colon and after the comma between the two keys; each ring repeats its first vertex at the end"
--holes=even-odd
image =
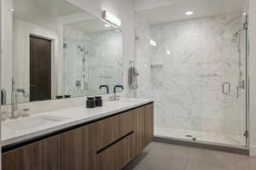
{"type": "Polygon", "coordinates": [[[104,94],[99,86],[106,84],[113,92],[113,86],[123,83],[122,33],[103,31],[84,33],[71,26],[64,26],[62,62],[63,94],[73,96],[104,94]],[[84,51],[81,51],[81,48],[84,51]],[[83,86],[83,59],[85,82],[83,86]],[[76,90],[76,81],[82,82],[82,91],[76,90]]]}

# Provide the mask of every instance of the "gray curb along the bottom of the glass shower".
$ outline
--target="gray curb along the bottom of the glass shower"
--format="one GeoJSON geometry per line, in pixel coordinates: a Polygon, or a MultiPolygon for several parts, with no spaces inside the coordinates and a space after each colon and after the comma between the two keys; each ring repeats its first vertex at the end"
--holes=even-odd
{"type": "Polygon", "coordinates": [[[198,141],[189,141],[186,139],[175,139],[175,138],[166,138],[161,136],[154,136],[154,142],[166,143],[166,144],[177,144],[183,146],[190,146],[195,148],[203,148],[207,150],[218,150],[230,153],[236,153],[241,155],[249,155],[249,150],[241,147],[231,147],[224,144],[207,144],[198,141]]]}

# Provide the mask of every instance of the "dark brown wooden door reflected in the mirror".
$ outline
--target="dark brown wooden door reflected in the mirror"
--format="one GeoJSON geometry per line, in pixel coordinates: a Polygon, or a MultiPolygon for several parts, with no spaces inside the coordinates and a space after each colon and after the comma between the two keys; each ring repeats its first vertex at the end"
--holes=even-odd
{"type": "Polygon", "coordinates": [[[51,99],[51,41],[30,37],[30,100],[51,99]]]}

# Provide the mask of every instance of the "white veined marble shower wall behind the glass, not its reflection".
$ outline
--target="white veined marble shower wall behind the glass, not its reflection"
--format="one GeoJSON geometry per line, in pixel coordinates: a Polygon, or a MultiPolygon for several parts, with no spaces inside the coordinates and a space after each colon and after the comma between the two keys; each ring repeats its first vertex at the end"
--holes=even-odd
{"type": "Polygon", "coordinates": [[[137,66],[143,73],[137,94],[154,98],[155,127],[242,135],[246,91],[237,98],[236,86],[240,72],[246,79],[245,34],[234,36],[243,26],[241,14],[141,23],[137,17],[137,66]],[[143,66],[148,60],[149,69],[143,66]],[[230,94],[222,93],[224,82],[230,82],[230,94]]]}

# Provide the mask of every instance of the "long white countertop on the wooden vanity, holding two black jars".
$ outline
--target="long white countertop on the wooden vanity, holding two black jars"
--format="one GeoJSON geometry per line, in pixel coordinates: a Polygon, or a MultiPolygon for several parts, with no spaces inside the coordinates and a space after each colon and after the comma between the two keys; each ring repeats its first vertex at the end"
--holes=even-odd
{"type": "MultiPolygon", "coordinates": [[[[28,139],[34,139],[48,133],[53,133],[63,128],[72,127],[84,122],[90,122],[104,116],[111,116],[140,105],[146,105],[152,101],[152,99],[121,99],[118,101],[104,101],[102,107],[95,109],[86,109],[85,105],[83,105],[75,108],[37,113],[26,118],[21,117],[17,120],[2,122],[2,146],[17,144],[28,139]],[[58,116],[67,119],[60,122],[36,124],[36,120],[40,116],[58,116]],[[32,120],[35,122],[32,122],[32,120]],[[26,123],[28,121],[29,123],[26,123]],[[22,123],[24,123],[26,129],[18,128],[22,123]]],[[[21,127],[22,126],[23,125],[21,125],[21,127]]]]}

